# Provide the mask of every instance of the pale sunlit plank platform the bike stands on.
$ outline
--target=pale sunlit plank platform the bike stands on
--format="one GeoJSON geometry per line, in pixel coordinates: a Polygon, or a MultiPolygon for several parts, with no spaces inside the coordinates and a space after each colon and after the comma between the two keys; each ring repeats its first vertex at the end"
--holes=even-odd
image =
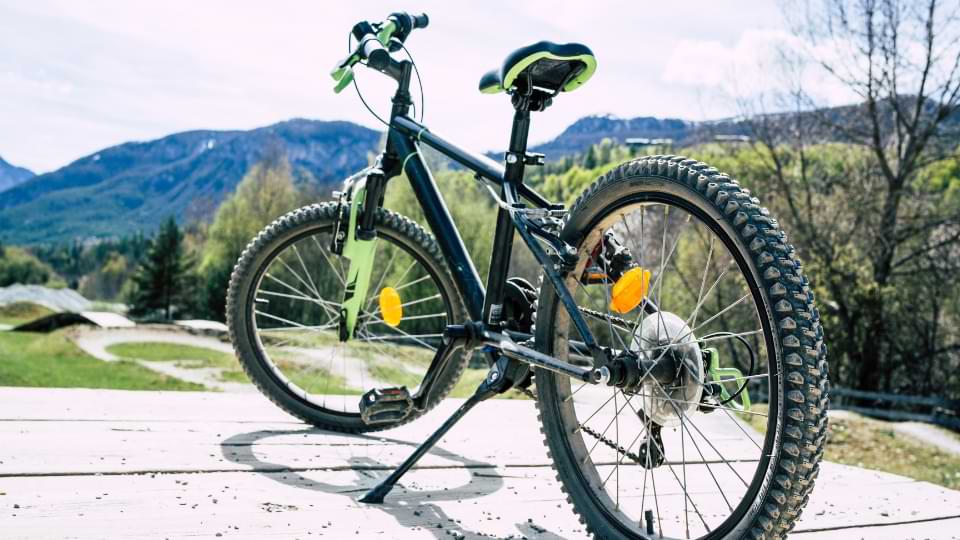
{"type": "MultiPolygon", "coordinates": [[[[481,405],[386,504],[355,501],[458,403],[363,437],[259,394],[0,388],[0,538],[585,538],[529,401],[481,405]]],[[[957,531],[960,492],[826,463],[794,536],[957,531]]]]}

